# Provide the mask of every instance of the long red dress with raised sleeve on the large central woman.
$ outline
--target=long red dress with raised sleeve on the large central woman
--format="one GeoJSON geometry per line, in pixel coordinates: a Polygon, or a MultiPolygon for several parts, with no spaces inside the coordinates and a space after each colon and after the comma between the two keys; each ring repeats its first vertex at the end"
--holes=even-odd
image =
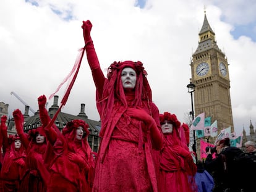
{"type": "MultiPolygon", "coordinates": [[[[134,107],[134,101],[138,99],[136,93],[117,98],[116,95],[121,94],[118,89],[122,88],[121,72],[115,76],[116,80],[108,80],[100,69],[92,41],[86,43],[85,49],[96,85],[96,102],[102,120],[93,191],[158,191],[152,138],[149,133],[142,131],[147,129],[142,121],[126,113],[128,107],[134,107]],[[112,104],[109,99],[113,99],[112,104]]],[[[159,111],[155,104],[148,99],[141,99],[139,106],[155,119],[160,128],[159,111]]]]}

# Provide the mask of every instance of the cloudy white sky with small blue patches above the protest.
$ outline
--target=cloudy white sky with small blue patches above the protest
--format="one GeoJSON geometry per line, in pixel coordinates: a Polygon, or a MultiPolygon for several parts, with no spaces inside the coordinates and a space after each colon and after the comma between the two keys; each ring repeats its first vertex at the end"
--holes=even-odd
{"type": "MultiPolygon", "coordinates": [[[[90,20],[105,74],[113,61],[142,61],[160,113],[169,111],[186,121],[190,59],[206,10],[218,47],[228,58],[234,129],[239,134],[244,127],[249,134],[250,120],[256,125],[254,0],[1,0],[0,7],[0,102],[9,104],[9,117],[14,109],[25,111],[11,91],[37,111],[38,96],[48,98],[56,90],[84,46],[82,20],[90,20]]],[[[59,105],[66,86],[57,93],[59,105]]],[[[53,99],[48,102],[47,108],[53,99]]],[[[86,57],[62,112],[78,115],[81,103],[89,119],[100,120],[86,57]]]]}

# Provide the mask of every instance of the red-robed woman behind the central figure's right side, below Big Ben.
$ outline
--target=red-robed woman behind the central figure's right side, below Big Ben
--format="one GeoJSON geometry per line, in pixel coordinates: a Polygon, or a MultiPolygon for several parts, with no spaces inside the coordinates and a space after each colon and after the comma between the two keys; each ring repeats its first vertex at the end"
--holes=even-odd
{"type": "Polygon", "coordinates": [[[160,114],[164,144],[160,151],[160,192],[197,191],[194,175],[197,172],[187,143],[179,137],[181,122],[169,112],[160,114]]]}

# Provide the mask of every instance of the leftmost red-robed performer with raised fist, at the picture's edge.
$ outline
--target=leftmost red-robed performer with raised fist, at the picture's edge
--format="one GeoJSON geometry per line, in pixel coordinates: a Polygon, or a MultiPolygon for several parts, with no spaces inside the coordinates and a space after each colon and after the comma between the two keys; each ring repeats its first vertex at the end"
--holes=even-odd
{"type": "Polygon", "coordinates": [[[4,192],[20,191],[20,178],[24,172],[25,148],[18,135],[7,136],[6,115],[1,117],[1,134],[4,161],[2,162],[2,185],[4,192]]]}

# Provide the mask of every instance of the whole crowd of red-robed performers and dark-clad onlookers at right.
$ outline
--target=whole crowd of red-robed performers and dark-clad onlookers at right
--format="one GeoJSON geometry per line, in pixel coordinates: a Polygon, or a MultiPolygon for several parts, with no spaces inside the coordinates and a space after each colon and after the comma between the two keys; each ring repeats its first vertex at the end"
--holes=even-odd
{"type": "MultiPolygon", "coordinates": [[[[90,20],[83,21],[82,29],[101,118],[99,150],[92,152],[84,120],[70,120],[61,131],[51,124],[46,96],[41,95],[41,127],[24,133],[23,115],[16,109],[17,135],[7,136],[7,117],[1,117],[0,192],[235,191],[233,177],[229,180],[234,172],[228,154],[235,154],[226,152],[234,151],[229,140],[217,144],[220,155],[216,159],[209,151],[205,164],[195,162],[188,148],[189,126],[171,112],[160,114],[142,62],[113,62],[105,77],[90,35],[90,20]],[[223,177],[226,170],[229,175],[223,177]],[[221,190],[217,190],[220,183],[221,190]]],[[[245,146],[247,156],[255,156],[255,143],[245,146]]]]}

